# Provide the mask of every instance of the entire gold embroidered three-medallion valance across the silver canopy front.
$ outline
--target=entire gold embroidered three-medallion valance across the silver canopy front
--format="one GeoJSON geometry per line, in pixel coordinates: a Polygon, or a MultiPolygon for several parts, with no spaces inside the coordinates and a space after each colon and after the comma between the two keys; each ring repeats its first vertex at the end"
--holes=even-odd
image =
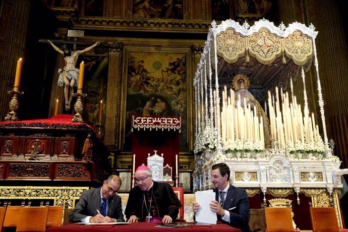
{"type": "Polygon", "coordinates": [[[234,28],[227,28],[216,36],[217,54],[227,63],[234,64],[248,53],[263,65],[272,64],[282,54],[286,54],[298,66],[305,65],[313,56],[311,38],[294,31],[282,38],[271,33],[267,28],[245,36],[237,33],[234,28]]]}

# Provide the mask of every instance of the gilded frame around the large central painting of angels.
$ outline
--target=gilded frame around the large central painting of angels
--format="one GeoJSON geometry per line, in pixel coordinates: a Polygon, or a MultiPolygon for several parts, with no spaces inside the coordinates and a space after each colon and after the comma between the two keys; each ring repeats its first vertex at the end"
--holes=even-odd
{"type": "MultiPolygon", "coordinates": [[[[127,111],[127,105],[128,105],[128,89],[129,89],[129,82],[128,82],[128,71],[129,71],[129,63],[130,63],[130,57],[134,57],[137,54],[145,55],[147,56],[155,56],[159,55],[159,57],[180,57],[182,58],[183,55],[186,59],[186,122],[182,123],[182,129],[181,133],[185,133],[185,145],[182,145],[183,139],[181,139],[181,152],[189,152],[190,149],[192,149],[192,134],[193,134],[193,122],[192,122],[192,53],[191,48],[189,46],[176,46],[176,47],[164,47],[164,46],[156,46],[156,45],[149,45],[149,46],[125,46],[124,48],[124,56],[123,56],[123,76],[122,80],[123,83],[121,84],[122,88],[122,95],[121,95],[121,113],[120,113],[120,146],[121,150],[123,151],[130,151],[131,149],[129,147],[125,147],[126,141],[126,135],[128,135],[131,131],[129,128],[129,123],[127,121],[126,115],[129,114],[129,110],[127,111]],[[128,123],[128,124],[127,124],[128,123]]],[[[163,58],[163,59],[164,59],[163,58]]],[[[133,59],[133,58],[132,58],[133,59]]],[[[158,59],[159,60],[159,59],[158,59]]],[[[144,60],[146,62],[146,59],[144,60]]],[[[166,65],[166,64],[165,64],[166,65]]],[[[165,65],[162,66],[161,69],[165,69],[165,65]]],[[[171,107],[171,105],[168,105],[171,107]]],[[[129,106],[128,106],[129,107],[129,106]]],[[[171,115],[168,115],[171,116],[171,115]]],[[[174,115],[172,115],[174,116],[174,115]]],[[[182,135],[181,135],[182,137],[182,135]]],[[[127,144],[126,144],[127,145],[127,144]]]]}

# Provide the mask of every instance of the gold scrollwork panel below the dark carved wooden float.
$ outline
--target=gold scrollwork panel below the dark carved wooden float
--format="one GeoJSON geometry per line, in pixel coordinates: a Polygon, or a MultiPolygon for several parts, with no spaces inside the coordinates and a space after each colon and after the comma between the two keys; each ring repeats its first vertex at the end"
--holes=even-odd
{"type": "Polygon", "coordinates": [[[88,187],[36,187],[36,186],[1,186],[0,199],[52,199],[53,205],[63,205],[69,209],[75,207],[83,191],[88,187]]]}

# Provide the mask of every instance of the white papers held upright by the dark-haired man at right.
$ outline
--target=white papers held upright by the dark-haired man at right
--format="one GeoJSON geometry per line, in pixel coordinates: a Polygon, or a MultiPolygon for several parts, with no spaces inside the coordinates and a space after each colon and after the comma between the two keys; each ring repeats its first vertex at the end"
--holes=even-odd
{"type": "Polygon", "coordinates": [[[215,200],[213,190],[197,191],[195,193],[196,202],[201,205],[201,208],[196,213],[196,221],[199,223],[216,224],[216,213],[210,210],[210,202],[215,200]]]}

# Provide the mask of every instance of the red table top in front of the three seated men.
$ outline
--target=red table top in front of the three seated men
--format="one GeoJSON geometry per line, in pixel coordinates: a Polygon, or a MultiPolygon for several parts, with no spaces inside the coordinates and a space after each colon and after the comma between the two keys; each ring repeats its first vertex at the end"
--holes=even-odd
{"type": "MultiPolygon", "coordinates": [[[[188,224],[189,222],[185,222],[188,224]]],[[[193,224],[193,223],[190,223],[193,224]]],[[[231,232],[241,232],[240,229],[234,228],[232,226],[229,226],[227,224],[218,223],[213,224],[211,227],[191,227],[191,226],[185,226],[185,227],[156,227],[158,224],[154,222],[135,222],[132,224],[118,224],[114,225],[113,227],[106,227],[106,226],[93,226],[93,225],[84,225],[84,224],[69,224],[69,225],[63,225],[63,226],[54,226],[47,228],[46,232],[101,232],[101,231],[115,231],[122,229],[122,232],[148,232],[148,231],[231,231],[231,232]]]]}

